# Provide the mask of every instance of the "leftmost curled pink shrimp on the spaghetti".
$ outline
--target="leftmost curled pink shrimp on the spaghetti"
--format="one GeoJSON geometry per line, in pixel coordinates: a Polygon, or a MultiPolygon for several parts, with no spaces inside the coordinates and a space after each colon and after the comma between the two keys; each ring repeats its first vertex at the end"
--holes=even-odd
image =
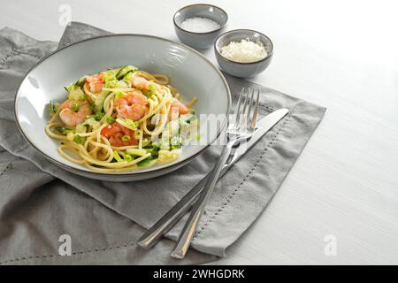
{"type": "Polygon", "coordinates": [[[76,126],[84,122],[86,116],[92,112],[85,100],[67,100],[61,104],[61,107],[62,111],[59,112],[59,118],[66,126],[76,126]]]}

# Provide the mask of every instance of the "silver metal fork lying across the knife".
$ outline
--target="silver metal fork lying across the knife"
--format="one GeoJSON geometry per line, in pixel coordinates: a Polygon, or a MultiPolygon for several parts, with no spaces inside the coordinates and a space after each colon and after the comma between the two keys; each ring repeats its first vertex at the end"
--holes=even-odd
{"type": "Polygon", "coordinates": [[[233,115],[228,117],[229,123],[226,131],[228,142],[221,152],[218,162],[214,165],[209,178],[206,180],[203,192],[195,203],[188,221],[180,233],[180,238],[171,254],[174,258],[182,259],[186,256],[190,243],[194,238],[196,227],[202,218],[204,207],[217,183],[223,164],[226,163],[228,157],[231,155],[233,147],[240,142],[247,141],[256,130],[260,90],[257,89],[256,91],[256,103],[253,103],[254,94],[255,90],[253,88],[249,88],[247,91],[244,88],[241,89],[233,115]],[[253,108],[253,115],[251,115],[253,108]]]}

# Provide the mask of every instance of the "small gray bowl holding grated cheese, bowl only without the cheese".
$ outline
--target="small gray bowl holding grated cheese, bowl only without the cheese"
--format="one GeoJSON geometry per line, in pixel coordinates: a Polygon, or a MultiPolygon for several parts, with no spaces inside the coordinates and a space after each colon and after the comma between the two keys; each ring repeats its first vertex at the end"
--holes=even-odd
{"type": "Polygon", "coordinates": [[[218,65],[228,74],[240,78],[250,78],[258,73],[263,72],[271,63],[273,55],[273,43],[271,39],[265,34],[261,34],[250,29],[235,29],[225,34],[221,34],[216,42],[214,42],[214,50],[216,53],[218,65]],[[226,46],[229,42],[239,42],[242,39],[248,39],[252,42],[263,42],[264,48],[267,51],[267,56],[264,59],[241,63],[235,62],[221,55],[221,48],[226,46]]]}

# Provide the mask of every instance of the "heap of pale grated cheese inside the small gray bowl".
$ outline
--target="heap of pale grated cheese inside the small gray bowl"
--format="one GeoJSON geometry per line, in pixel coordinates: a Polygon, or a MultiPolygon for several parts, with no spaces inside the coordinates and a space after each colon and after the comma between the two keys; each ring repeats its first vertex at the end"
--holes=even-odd
{"type": "Polygon", "coordinates": [[[229,42],[221,48],[221,55],[235,62],[250,63],[267,57],[267,51],[263,42],[250,42],[248,38],[241,42],[229,42]]]}

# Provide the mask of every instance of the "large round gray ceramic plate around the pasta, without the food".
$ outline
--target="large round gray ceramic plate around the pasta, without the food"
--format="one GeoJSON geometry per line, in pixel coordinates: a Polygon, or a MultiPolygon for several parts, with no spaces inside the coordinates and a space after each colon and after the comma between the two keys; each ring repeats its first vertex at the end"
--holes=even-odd
{"type": "MultiPolygon", "coordinates": [[[[198,97],[198,114],[226,114],[231,94],[218,68],[186,45],[142,34],[105,35],[77,42],[45,57],[27,73],[15,98],[15,115],[19,129],[35,149],[65,170],[97,180],[144,180],[172,172],[187,164],[213,142],[219,131],[187,146],[182,155],[170,164],[132,170],[131,172],[92,172],[73,164],[57,153],[59,141],[44,132],[49,119],[47,105],[51,99],[62,102],[64,86],[88,73],[109,67],[136,65],[149,73],[165,73],[186,100],[198,97]]],[[[226,125],[226,119],[221,123],[226,125]]]]}

